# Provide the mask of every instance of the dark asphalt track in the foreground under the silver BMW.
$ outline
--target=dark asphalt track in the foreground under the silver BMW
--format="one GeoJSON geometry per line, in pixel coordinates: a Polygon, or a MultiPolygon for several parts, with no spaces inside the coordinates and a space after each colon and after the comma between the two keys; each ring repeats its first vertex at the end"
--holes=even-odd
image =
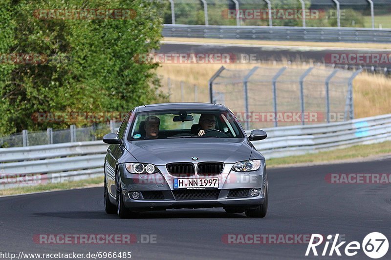
{"type": "MultiPolygon", "coordinates": [[[[391,159],[268,170],[264,219],[222,209],[167,210],[120,220],[103,209],[103,187],[0,198],[1,252],[131,252],[132,259],[306,259],[306,244],[226,244],[224,234],[344,234],[391,238],[391,184],[330,184],[328,173],[390,173],[391,159]],[[152,234],[156,243],[39,244],[37,234],[152,234]]],[[[345,244],[346,245],[346,244],[345,244]]],[[[344,250],[345,245],[342,247],[344,250]]],[[[319,247],[321,254],[323,246],[319,247]]],[[[391,259],[391,250],[382,259],[391,259]]],[[[327,252],[328,254],[328,252],[327,252]]],[[[347,259],[314,257],[313,259],[347,259]]],[[[369,259],[360,249],[351,259],[369,259]]],[[[349,259],[349,258],[348,258],[349,259]]]]}

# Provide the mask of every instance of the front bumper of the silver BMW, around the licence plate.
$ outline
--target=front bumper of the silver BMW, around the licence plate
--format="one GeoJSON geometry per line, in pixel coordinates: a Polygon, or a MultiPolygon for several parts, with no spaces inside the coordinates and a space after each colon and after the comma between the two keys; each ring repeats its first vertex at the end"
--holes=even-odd
{"type": "Polygon", "coordinates": [[[165,166],[158,166],[161,173],[139,175],[124,173],[120,167],[124,204],[134,211],[159,210],[171,208],[211,208],[242,207],[251,209],[263,204],[266,191],[266,172],[264,162],[258,171],[235,172],[233,164],[225,164],[218,178],[217,189],[174,189],[174,179],[205,178],[195,174],[191,177],[175,177],[167,172],[165,166]],[[252,188],[261,189],[258,196],[252,197],[252,188]],[[139,198],[133,199],[132,193],[138,192],[139,198]]]}

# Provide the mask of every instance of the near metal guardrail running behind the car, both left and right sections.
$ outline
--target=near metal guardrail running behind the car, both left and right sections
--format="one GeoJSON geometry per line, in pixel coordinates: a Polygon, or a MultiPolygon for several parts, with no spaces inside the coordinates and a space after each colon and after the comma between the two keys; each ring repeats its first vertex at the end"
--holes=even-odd
{"type": "MultiPolygon", "coordinates": [[[[391,140],[391,114],[346,122],[264,130],[268,138],[253,143],[266,159],[302,155],[391,140]]],[[[38,183],[102,176],[107,146],[102,141],[87,141],[1,148],[0,189],[28,185],[21,176],[29,174],[38,174],[38,183]]]]}

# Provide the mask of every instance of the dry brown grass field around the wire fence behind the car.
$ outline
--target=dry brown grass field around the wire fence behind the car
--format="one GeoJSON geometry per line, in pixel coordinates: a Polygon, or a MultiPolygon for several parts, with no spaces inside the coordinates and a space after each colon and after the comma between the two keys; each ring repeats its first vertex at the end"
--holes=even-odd
{"type": "MultiPolygon", "coordinates": [[[[311,63],[292,63],[286,61],[281,63],[234,63],[224,64],[227,69],[248,70],[254,66],[267,68],[289,68],[306,69],[315,66],[325,69],[323,65],[311,63]]],[[[162,77],[162,91],[168,93],[168,78],[171,80],[170,101],[198,101],[209,102],[208,80],[221,67],[221,64],[162,64],[157,72],[162,77]],[[184,82],[184,92],[181,95],[180,81],[184,82]],[[197,87],[195,97],[194,85],[197,87]]],[[[384,75],[361,72],[353,80],[354,117],[363,118],[381,114],[391,113],[391,79],[384,75]]]]}

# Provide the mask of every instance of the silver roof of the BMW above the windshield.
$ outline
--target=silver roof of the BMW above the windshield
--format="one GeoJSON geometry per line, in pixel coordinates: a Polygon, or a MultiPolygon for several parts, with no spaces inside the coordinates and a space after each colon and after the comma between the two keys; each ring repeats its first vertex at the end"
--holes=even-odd
{"type": "Polygon", "coordinates": [[[212,103],[159,103],[159,104],[150,104],[138,106],[138,112],[149,112],[149,111],[159,111],[159,110],[170,110],[170,109],[210,109],[210,110],[222,110],[227,111],[228,109],[220,104],[212,103]]]}

